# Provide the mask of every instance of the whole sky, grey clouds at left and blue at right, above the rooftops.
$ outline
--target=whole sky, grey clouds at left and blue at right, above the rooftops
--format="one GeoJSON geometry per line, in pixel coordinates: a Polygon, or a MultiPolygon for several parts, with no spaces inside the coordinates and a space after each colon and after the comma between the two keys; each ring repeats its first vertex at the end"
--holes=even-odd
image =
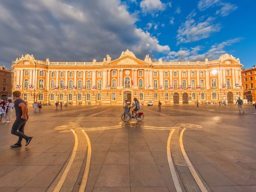
{"type": "Polygon", "coordinates": [[[34,54],[38,60],[137,58],[204,61],[221,54],[256,65],[252,0],[2,0],[0,65],[34,54]]]}

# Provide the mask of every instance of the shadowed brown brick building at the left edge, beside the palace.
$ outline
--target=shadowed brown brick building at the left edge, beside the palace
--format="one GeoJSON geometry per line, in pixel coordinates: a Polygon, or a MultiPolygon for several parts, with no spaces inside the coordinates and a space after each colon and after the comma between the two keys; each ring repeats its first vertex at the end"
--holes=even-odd
{"type": "Polygon", "coordinates": [[[7,100],[12,96],[12,72],[0,66],[0,96],[1,100],[7,100]]]}

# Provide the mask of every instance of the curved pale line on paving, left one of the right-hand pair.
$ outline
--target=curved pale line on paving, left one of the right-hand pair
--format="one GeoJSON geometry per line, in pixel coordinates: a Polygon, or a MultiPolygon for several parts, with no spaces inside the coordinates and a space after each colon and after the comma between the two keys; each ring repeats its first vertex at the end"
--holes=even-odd
{"type": "Polygon", "coordinates": [[[172,155],[171,155],[171,150],[170,150],[170,141],[171,141],[171,137],[172,137],[172,133],[175,131],[175,129],[170,130],[169,136],[168,136],[168,140],[167,140],[167,158],[168,158],[168,163],[169,163],[169,168],[172,174],[172,180],[176,189],[176,192],[182,192],[182,188],[180,186],[180,182],[178,180],[175,168],[174,168],[174,164],[172,161],[172,155]]]}

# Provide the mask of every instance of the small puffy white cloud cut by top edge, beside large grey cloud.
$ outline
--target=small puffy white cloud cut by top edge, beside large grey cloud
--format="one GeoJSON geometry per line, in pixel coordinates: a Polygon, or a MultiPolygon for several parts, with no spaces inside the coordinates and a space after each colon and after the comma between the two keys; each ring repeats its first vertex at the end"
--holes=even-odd
{"type": "Polygon", "coordinates": [[[153,14],[158,11],[164,11],[166,4],[163,4],[160,0],[142,0],[140,2],[140,8],[144,14],[153,14]]]}

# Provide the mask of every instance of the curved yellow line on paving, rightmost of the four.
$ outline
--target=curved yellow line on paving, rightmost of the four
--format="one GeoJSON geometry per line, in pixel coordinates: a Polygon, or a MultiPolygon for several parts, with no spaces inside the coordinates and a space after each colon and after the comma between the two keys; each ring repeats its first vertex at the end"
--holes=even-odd
{"type": "Polygon", "coordinates": [[[194,179],[196,180],[196,183],[198,184],[200,190],[202,192],[208,192],[208,190],[205,188],[204,184],[202,183],[201,179],[199,178],[198,174],[196,173],[196,170],[194,169],[194,167],[192,166],[192,163],[190,162],[188,155],[186,154],[186,151],[184,149],[184,145],[183,145],[183,141],[182,141],[182,136],[183,136],[183,132],[186,130],[186,128],[184,128],[181,132],[180,132],[180,148],[183,154],[183,157],[186,161],[186,163],[188,164],[188,168],[190,170],[190,172],[192,173],[194,179]]]}

